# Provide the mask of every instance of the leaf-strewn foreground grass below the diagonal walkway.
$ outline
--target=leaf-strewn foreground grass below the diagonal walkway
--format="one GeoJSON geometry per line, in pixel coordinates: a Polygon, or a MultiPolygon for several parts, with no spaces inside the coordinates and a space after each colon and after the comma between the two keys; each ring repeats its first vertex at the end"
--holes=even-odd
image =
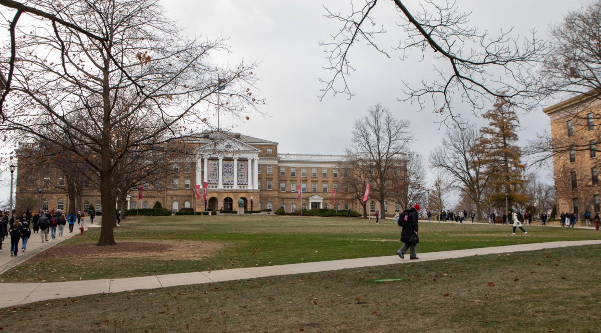
{"type": "Polygon", "coordinates": [[[7,332],[599,332],[600,267],[601,245],[482,255],[42,301],[0,310],[0,327],[7,332]],[[374,283],[381,278],[402,280],[374,283]]]}

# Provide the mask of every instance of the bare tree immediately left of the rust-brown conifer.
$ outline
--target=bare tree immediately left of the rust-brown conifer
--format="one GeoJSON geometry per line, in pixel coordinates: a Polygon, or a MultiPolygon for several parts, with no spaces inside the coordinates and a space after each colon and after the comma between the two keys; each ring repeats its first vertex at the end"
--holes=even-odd
{"type": "Polygon", "coordinates": [[[451,186],[465,193],[475,204],[478,218],[483,218],[480,202],[493,173],[486,163],[480,136],[473,127],[448,129],[441,145],[430,153],[430,164],[450,176],[451,186]]]}

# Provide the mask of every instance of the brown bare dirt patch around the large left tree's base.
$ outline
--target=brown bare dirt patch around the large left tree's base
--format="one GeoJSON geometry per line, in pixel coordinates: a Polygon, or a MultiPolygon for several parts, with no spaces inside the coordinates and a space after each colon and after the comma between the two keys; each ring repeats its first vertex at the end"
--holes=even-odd
{"type": "Polygon", "coordinates": [[[160,242],[119,242],[113,246],[91,243],[53,246],[29,260],[29,263],[56,257],[146,258],[152,260],[203,260],[225,248],[224,244],[172,240],[160,242]]]}

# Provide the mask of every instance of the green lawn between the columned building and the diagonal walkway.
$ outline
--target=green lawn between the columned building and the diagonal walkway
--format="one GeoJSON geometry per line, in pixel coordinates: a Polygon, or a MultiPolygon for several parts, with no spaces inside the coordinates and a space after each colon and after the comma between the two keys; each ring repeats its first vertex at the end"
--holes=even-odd
{"type": "MultiPolygon", "coordinates": [[[[557,240],[601,239],[601,232],[529,226],[528,235],[510,236],[507,225],[438,224],[420,222],[419,252],[447,251],[557,240]]],[[[157,258],[150,252],[107,255],[82,252],[76,246],[95,243],[98,229],[73,237],[0,275],[5,282],[69,281],[165,273],[218,270],[234,267],[344,258],[394,255],[400,248],[400,228],[391,220],[379,225],[364,219],[301,218],[296,216],[166,216],[124,221],[115,229],[120,245],[126,242],[198,244],[157,258]],[[203,250],[206,247],[212,250],[203,250]],[[203,257],[182,257],[204,251],[203,257]],[[186,253],[182,253],[186,252],[186,253]]],[[[117,245],[117,246],[120,246],[117,245]]],[[[96,248],[103,251],[105,248],[96,248]]],[[[108,249],[107,249],[108,251],[108,249]]],[[[111,249],[112,251],[112,249],[111,249]]]]}

